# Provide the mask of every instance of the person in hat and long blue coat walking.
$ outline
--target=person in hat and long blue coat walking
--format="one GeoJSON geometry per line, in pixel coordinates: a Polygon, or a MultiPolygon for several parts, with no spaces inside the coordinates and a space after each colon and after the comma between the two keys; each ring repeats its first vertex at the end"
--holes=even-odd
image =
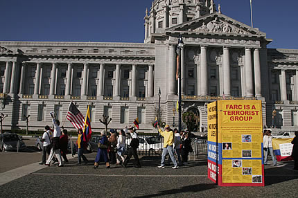
{"type": "Polygon", "coordinates": [[[98,150],[94,162],[94,168],[98,168],[98,163],[100,161],[105,162],[106,168],[109,168],[109,158],[107,157],[108,141],[107,136],[105,135],[105,130],[102,130],[100,134],[101,138],[98,143],[98,150]]]}

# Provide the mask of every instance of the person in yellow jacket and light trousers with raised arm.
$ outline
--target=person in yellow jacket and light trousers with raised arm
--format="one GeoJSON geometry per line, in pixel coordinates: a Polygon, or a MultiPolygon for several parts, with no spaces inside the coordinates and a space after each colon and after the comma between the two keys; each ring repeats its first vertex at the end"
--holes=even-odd
{"type": "Polygon", "coordinates": [[[157,126],[158,132],[161,134],[161,136],[164,137],[164,150],[162,150],[161,154],[161,165],[158,166],[158,168],[164,168],[164,159],[166,157],[166,154],[170,154],[170,159],[173,161],[174,167],[173,169],[178,168],[177,161],[173,154],[173,143],[174,143],[174,132],[170,129],[169,125],[166,125],[165,131],[163,132],[159,126],[157,126]]]}

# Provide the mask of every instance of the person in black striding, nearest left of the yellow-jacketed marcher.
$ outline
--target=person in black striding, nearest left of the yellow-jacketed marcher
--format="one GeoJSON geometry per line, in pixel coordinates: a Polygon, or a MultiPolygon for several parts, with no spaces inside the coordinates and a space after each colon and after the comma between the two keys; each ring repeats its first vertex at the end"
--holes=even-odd
{"type": "Polygon", "coordinates": [[[134,159],[136,161],[134,168],[141,168],[141,163],[139,161],[139,156],[137,153],[137,148],[139,147],[139,138],[137,136],[137,133],[134,132],[134,128],[130,127],[130,135],[132,136],[132,141],[130,141],[130,147],[128,150],[128,156],[126,156],[124,162],[123,162],[123,166],[126,168],[126,166],[128,165],[128,162],[130,161],[130,158],[132,156],[134,156],[134,159]]]}

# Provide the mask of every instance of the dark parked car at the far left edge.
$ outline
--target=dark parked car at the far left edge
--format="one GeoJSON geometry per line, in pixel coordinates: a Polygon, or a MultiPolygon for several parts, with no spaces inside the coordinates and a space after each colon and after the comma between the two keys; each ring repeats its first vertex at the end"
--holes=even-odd
{"type": "Polygon", "coordinates": [[[26,145],[22,141],[21,136],[15,133],[0,134],[0,150],[5,151],[26,150],[26,145]]]}

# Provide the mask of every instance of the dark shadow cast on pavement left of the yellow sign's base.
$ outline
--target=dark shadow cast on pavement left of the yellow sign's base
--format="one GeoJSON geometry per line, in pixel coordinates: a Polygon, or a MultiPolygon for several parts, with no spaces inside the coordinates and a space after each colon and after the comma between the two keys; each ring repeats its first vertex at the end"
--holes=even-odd
{"type": "MultiPolygon", "coordinates": [[[[159,193],[155,193],[152,195],[145,195],[145,196],[140,196],[143,198],[148,198],[148,197],[159,197],[163,195],[173,195],[173,194],[178,194],[178,193],[185,193],[185,192],[200,192],[203,190],[209,190],[211,188],[216,188],[216,183],[201,183],[201,184],[196,184],[196,185],[190,185],[190,186],[183,186],[182,188],[175,188],[175,189],[170,189],[170,190],[163,190],[160,191],[159,193]]],[[[179,195],[177,195],[178,197],[179,195]]],[[[138,198],[138,197],[134,197],[138,198]]]]}

